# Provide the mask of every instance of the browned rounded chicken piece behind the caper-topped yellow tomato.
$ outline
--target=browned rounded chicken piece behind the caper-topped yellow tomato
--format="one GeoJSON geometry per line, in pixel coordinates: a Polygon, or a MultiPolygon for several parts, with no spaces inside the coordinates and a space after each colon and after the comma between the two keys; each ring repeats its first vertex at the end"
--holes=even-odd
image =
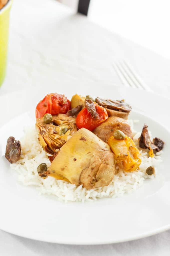
{"type": "Polygon", "coordinates": [[[93,133],[107,143],[108,139],[113,135],[115,130],[120,130],[128,137],[133,138],[130,125],[127,123],[126,120],[117,116],[108,117],[106,121],[96,127],[93,133]]]}

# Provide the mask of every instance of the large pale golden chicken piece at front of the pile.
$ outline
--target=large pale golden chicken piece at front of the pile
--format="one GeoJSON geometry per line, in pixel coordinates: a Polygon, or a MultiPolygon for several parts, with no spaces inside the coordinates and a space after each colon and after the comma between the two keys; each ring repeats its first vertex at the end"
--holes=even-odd
{"type": "Polygon", "coordinates": [[[109,185],[114,173],[114,155],[109,145],[85,128],[61,147],[46,172],[47,176],[83,184],[87,189],[109,185]]]}

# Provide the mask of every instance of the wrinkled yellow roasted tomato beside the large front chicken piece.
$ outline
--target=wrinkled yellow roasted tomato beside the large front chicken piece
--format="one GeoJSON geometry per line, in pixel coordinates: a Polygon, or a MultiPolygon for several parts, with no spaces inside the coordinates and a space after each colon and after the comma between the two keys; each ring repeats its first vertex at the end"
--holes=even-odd
{"type": "Polygon", "coordinates": [[[125,135],[122,140],[116,140],[114,136],[108,140],[112,152],[114,153],[115,164],[125,172],[134,172],[141,164],[141,153],[135,146],[133,140],[125,135]]]}

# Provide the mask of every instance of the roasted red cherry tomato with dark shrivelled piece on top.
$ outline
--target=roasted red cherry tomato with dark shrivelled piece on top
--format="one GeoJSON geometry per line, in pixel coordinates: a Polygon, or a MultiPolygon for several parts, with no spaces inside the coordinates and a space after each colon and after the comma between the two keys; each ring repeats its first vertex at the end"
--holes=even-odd
{"type": "Polygon", "coordinates": [[[108,113],[105,108],[95,103],[96,112],[99,114],[98,118],[92,117],[86,108],[82,109],[76,117],[76,125],[80,128],[86,128],[93,131],[97,126],[108,119],[108,113]]]}

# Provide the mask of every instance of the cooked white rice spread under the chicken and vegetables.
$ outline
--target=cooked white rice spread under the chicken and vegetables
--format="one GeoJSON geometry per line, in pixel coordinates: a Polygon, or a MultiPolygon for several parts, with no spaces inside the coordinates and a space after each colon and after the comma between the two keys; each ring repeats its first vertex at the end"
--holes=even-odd
{"type": "MultiPolygon", "coordinates": [[[[134,123],[137,120],[134,120],[134,123]]],[[[133,130],[133,121],[129,120],[131,125],[134,142],[139,147],[138,138],[141,132],[133,130]]],[[[150,133],[151,135],[151,133],[150,133]]],[[[142,150],[142,163],[137,172],[126,173],[120,171],[116,174],[112,182],[105,187],[96,189],[86,189],[82,185],[76,186],[63,180],[56,180],[53,177],[41,178],[37,173],[37,166],[41,163],[50,165],[48,154],[41,147],[35,127],[25,129],[25,135],[20,140],[22,145],[21,159],[11,164],[11,168],[17,170],[18,181],[24,185],[35,185],[39,190],[39,194],[55,195],[60,201],[92,201],[104,197],[120,197],[125,193],[132,193],[138,189],[145,179],[153,179],[157,173],[156,166],[162,162],[162,151],[156,153],[155,157],[148,157],[148,150],[142,150]],[[155,167],[155,175],[147,175],[146,168],[149,166],[155,167]]]]}

